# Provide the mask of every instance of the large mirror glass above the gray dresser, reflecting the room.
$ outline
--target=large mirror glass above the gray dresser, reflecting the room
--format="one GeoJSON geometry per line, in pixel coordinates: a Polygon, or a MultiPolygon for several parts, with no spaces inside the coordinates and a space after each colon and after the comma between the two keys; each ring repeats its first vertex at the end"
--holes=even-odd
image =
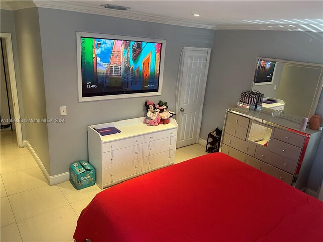
{"type": "Polygon", "coordinates": [[[314,115],[322,84],[322,64],[257,57],[251,89],[264,94],[261,111],[301,122],[314,115]]]}

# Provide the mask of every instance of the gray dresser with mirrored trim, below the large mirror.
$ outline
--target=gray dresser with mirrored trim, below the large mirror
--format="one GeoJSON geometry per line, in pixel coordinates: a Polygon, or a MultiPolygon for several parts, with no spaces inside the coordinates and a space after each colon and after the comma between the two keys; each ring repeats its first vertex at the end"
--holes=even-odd
{"type": "Polygon", "coordinates": [[[228,108],[220,151],[304,190],[321,131],[299,128],[259,111],[228,108]]]}

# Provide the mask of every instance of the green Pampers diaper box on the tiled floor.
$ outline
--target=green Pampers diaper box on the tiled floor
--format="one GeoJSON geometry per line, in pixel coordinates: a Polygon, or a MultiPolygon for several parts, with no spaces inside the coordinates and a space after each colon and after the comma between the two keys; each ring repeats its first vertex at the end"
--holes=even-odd
{"type": "Polygon", "coordinates": [[[80,190],[95,184],[95,170],[86,161],[78,161],[70,165],[70,181],[80,190]]]}

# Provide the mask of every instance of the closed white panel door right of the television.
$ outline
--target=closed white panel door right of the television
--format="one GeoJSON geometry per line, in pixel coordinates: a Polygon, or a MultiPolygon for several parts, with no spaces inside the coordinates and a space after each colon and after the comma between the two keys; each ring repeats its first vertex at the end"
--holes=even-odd
{"type": "Polygon", "coordinates": [[[177,148],[198,143],[210,49],[184,49],[178,101],[177,148]]]}

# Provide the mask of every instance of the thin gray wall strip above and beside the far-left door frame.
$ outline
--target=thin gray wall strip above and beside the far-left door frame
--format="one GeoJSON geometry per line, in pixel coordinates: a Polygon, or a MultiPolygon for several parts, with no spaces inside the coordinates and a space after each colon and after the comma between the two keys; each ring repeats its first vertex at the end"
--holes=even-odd
{"type": "MultiPolygon", "coordinates": [[[[19,61],[18,61],[18,49],[17,49],[15,19],[14,19],[14,12],[13,11],[0,9],[0,32],[11,34],[19,112],[20,112],[20,118],[23,118],[24,117],[24,108],[23,108],[23,104],[22,104],[20,69],[19,69],[19,61]]],[[[26,130],[25,130],[24,123],[21,124],[21,129],[22,129],[23,140],[25,140],[26,139],[26,130]]]]}

